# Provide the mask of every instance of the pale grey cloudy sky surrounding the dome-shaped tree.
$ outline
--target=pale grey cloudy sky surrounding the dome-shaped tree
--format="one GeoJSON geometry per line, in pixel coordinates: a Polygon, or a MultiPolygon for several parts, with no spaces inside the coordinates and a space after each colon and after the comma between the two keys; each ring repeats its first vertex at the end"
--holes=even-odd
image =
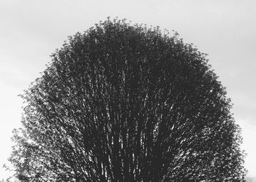
{"type": "Polygon", "coordinates": [[[245,166],[256,176],[255,9],[255,0],[0,0],[0,180],[9,175],[1,166],[10,156],[12,130],[20,127],[18,95],[67,36],[107,17],[177,31],[208,54],[242,129],[245,166]]]}

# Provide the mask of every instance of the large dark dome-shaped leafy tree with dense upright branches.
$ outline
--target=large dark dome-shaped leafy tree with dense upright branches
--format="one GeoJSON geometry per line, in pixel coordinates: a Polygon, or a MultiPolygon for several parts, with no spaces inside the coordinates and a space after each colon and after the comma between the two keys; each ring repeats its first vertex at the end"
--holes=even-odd
{"type": "Polygon", "coordinates": [[[23,181],[245,181],[240,128],[206,55],[106,20],[69,36],[22,95],[23,181]]]}

